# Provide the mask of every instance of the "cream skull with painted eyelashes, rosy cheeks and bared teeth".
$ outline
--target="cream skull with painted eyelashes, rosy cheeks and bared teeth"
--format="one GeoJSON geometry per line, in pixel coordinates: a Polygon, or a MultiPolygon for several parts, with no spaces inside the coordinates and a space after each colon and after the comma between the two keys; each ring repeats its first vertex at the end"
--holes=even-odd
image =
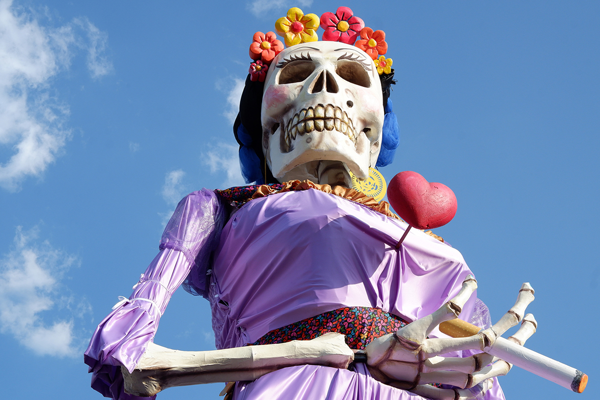
{"type": "Polygon", "coordinates": [[[318,178],[331,162],[367,178],[383,127],[373,60],[331,41],[283,50],[266,76],[261,123],[266,162],[280,181],[318,178]]]}

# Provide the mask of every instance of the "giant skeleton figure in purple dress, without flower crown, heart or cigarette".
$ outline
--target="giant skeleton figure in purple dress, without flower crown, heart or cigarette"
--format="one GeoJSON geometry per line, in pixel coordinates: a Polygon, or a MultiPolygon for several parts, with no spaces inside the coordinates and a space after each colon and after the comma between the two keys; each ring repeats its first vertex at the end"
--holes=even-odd
{"type": "MultiPolygon", "coordinates": [[[[367,178],[380,158],[391,74],[338,41],[294,44],[268,68],[264,83],[248,77],[235,132],[247,165],[276,183],[178,204],[133,294],[94,333],[92,387],[115,399],[230,380],[238,400],[503,399],[494,377],[510,366],[481,350],[523,318],[533,290],[524,284],[490,327],[460,252],[419,230],[396,248],[407,224],[350,189],[350,172],[367,178]],[[211,303],[223,350],[152,343],[181,284],[211,303]],[[484,330],[458,339],[436,329],[458,316],[484,330]],[[327,331],[347,344],[340,333],[317,338],[327,331]],[[367,363],[351,363],[351,349],[367,363]]],[[[533,317],[524,321],[521,344],[535,331],[533,317]]]]}

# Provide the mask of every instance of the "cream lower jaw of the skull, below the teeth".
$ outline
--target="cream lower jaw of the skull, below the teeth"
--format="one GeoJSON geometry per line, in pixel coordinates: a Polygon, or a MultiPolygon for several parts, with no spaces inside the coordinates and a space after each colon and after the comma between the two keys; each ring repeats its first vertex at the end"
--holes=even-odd
{"type": "MultiPolygon", "coordinates": [[[[339,161],[342,166],[335,167],[340,172],[345,172],[344,181],[349,184],[350,176],[347,172],[351,171],[358,179],[367,178],[373,153],[375,158],[379,153],[379,142],[371,143],[362,132],[356,137],[356,145],[348,136],[337,131],[313,131],[297,136],[292,141],[289,152],[281,151],[280,143],[280,132],[277,131],[269,137],[266,149],[266,162],[273,176],[280,182],[310,179],[320,184],[334,184],[335,182],[320,182],[325,175],[323,171],[319,171],[319,167],[323,168],[319,161],[339,161]]],[[[337,176],[331,172],[326,175],[331,179],[337,176]]]]}

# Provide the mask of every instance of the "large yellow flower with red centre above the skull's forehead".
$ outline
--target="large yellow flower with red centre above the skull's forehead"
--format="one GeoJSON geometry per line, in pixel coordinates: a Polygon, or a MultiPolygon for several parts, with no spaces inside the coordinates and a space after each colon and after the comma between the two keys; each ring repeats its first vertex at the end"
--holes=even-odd
{"type": "Polygon", "coordinates": [[[319,29],[320,20],[315,14],[302,13],[298,7],[287,10],[287,16],[275,22],[275,31],[283,36],[286,46],[290,47],[299,43],[317,41],[316,30],[319,29]]]}

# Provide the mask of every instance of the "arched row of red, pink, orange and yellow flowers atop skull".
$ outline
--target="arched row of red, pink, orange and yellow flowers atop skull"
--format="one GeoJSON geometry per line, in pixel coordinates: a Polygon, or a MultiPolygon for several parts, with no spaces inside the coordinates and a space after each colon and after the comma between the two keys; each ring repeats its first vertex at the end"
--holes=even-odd
{"type": "MultiPolygon", "coordinates": [[[[284,38],[286,46],[290,47],[319,40],[316,33],[319,26],[325,30],[321,37],[323,41],[353,44],[373,59],[379,75],[391,73],[392,59],[383,56],[388,51],[385,32],[365,27],[363,20],[355,17],[348,7],[338,7],[335,14],[323,13],[320,19],[316,14],[304,14],[298,7],[292,7],[287,10],[285,17],[275,22],[275,31],[284,38]]],[[[250,44],[249,53],[253,59],[248,70],[250,80],[265,82],[269,65],[283,49],[283,43],[274,32],[256,32],[250,44]]]]}

